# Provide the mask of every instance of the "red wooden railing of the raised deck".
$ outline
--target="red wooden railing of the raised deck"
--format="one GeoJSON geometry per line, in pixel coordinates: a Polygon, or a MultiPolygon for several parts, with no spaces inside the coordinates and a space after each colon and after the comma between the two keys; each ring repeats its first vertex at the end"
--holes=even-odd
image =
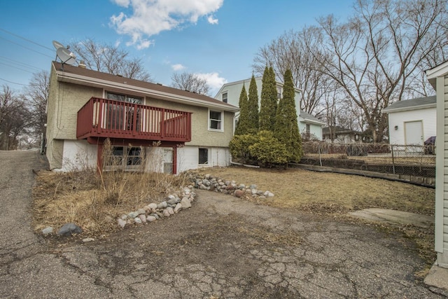
{"type": "Polygon", "coordinates": [[[92,97],[79,111],[76,138],[191,141],[191,113],[92,97]]]}

